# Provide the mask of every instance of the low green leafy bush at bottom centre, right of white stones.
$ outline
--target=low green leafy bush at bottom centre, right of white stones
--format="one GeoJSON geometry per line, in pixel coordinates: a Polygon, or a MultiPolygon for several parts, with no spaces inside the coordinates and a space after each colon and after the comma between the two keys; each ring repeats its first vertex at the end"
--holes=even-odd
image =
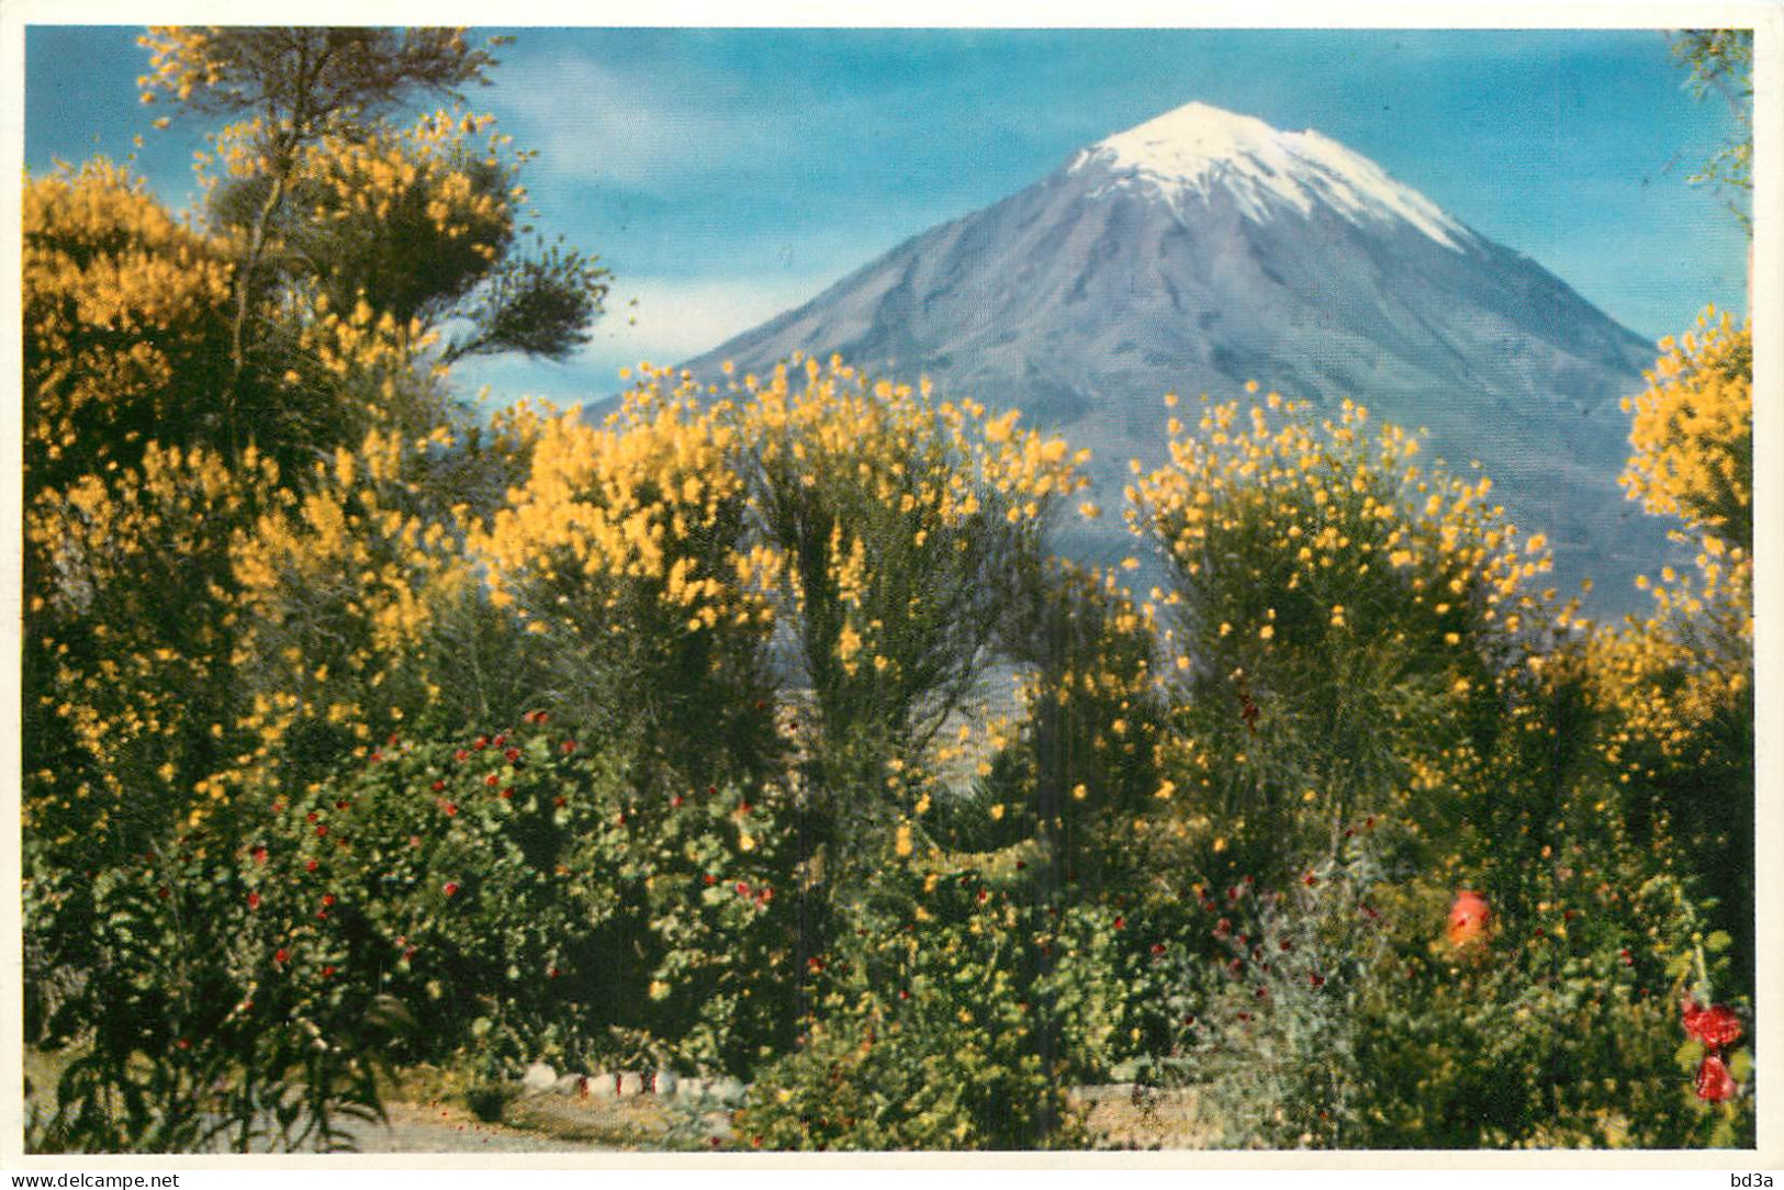
{"type": "Polygon", "coordinates": [[[1035,1149],[1078,1136],[1024,996],[1022,906],[974,871],[885,872],[812,956],[799,1047],[735,1129],[767,1149],[1035,1149]]]}

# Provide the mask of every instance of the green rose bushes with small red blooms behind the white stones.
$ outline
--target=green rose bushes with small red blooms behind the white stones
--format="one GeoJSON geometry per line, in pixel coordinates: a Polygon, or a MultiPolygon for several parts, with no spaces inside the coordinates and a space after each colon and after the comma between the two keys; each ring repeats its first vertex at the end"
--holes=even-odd
{"type": "Polygon", "coordinates": [[[740,1070],[785,1028],[774,789],[637,790],[544,712],[359,753],[273,806],[266,846],[289,874],[266,901],[326,910],[293,935],[293,971],[396,997],[421,1026],[410,1058],[740,1070]]]}

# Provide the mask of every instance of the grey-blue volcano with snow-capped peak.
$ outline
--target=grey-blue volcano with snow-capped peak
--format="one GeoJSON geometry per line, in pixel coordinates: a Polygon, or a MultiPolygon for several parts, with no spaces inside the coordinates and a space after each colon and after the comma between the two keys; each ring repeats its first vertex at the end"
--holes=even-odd
{"type": "MultiPolygon", "coordinates": [[[[1092,448],[1106,508],[1129,459],[1165,460],[1165,393],[1258,380],[1317,409],[1356,398],[1427,426],[1456,469],[1479,460],[1513,521],[1549,533],[1557,585],[1597,580],[1600,612],[1638,607],[1629,580],[1666,550],[1616,485],[1618,398],[1650,343],[1367,157],[1206,103],[1078,150],[687,366],[765,371],[796,350],[1022,409],[1092,448]]],[[[1061,548],[1131,553],[1106,519],[1061,548]]]]}

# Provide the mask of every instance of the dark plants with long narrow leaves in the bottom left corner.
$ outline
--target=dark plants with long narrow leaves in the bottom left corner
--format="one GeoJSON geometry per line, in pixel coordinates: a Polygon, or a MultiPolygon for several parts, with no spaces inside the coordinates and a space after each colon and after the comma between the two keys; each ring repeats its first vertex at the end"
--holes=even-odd
{"type": "Polygon", "coordinates": [[[62,937],[32,949],[78,962],[32,1022],[34,1040],[71,1054],[55,1110],[32,1120],[34,1151],[330,1151],[348,1145],[346,1120],[382,1117],[375,1063],[400,1013],[326,969],[282,978],[293,919],[243,897],[243,867],[205,835],[86,880],[34,867],[27,933],[62,937]]]}

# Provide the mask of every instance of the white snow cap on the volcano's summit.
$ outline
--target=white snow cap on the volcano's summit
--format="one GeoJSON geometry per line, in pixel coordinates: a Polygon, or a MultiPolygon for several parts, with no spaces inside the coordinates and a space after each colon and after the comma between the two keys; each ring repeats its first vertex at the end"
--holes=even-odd
{"type": "Polygon", "coordinates": [[[1256,116],[1186,103],[1097,141],[1070,164],[1099,164],[1117,182],[1135,180],[1181,203],[1224,189],[1240,212],[1268,219],[1288,205],[1311,214],[1326,205],[1352,223],[1406,221],[1445,248],[1461,252],[1474,236],[1436,203],[1388,177],[1374,161],[1318,132],[1281,132],[1256,116]]]}

